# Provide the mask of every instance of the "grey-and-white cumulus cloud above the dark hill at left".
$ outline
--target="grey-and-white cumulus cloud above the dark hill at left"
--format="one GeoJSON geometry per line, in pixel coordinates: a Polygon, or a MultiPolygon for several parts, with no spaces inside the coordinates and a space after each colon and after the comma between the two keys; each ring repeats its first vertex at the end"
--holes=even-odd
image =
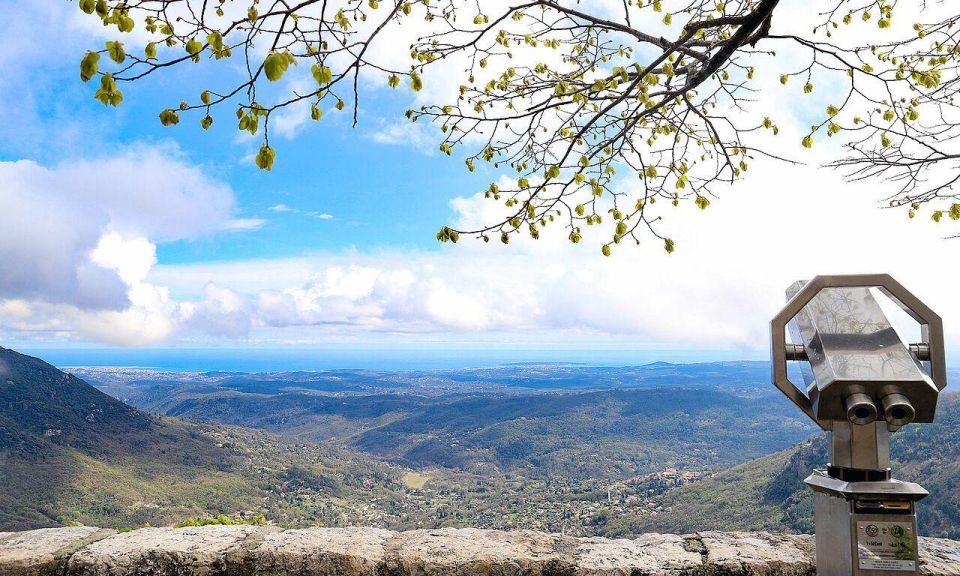
{"type": "Polygon", "coordinates": [[[163,341],[190,311],[146,282],[157,243],[263,224],[236,218],[229,187],[169,146],[0,162],[0,182],[0,328],[18,332],[163,341]]]}

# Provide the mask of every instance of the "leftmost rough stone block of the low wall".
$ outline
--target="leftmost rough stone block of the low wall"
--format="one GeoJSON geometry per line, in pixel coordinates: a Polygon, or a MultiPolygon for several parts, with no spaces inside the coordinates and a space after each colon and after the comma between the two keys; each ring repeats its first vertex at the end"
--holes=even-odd
{"type": "Polygon", "coordinates": [[[0,576],[62,573],[71,554],[110,534],[89,526],[0,533],[0,576]]]}

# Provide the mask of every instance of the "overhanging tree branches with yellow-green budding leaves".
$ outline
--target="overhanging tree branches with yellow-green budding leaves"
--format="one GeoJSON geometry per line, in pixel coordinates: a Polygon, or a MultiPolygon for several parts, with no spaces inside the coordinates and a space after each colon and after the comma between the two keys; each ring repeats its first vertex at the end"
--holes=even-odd
{"type": "Polygon", "coordinates": [[[661,232],[664,205],[705,209],[754,158],[779,158],[764,144],[779,127],[775,115],[758,111],[767,96],[758,88],[762,74],[773,74],[791,97],[827,77],[843,93],[816,112],[802,146],[842,137],[845,154],[834,166],[882,181],[890,206],[910,217],[925,208],[936,221],[960,219],[953,188],[960,15],[922,21],[929,11],[912,5],[918,21],[906,22],[914,16],[899,16],[908,11],[902,1],[830,0],[805,13],[810,32],[796,35],[778,32],[786,28],[778,26],[782,4],[79,0],[118,31],[83,56],[80,74],[96,81],[97,99],[116,106],[125,83],[194,63],[216,67],[216,85],[173,96],[185,99],[162,110],[160,121],[192,117],[208,128],[235,114],[239,130],[263,139],[256,163],[269,170],[271,115],[309,106],[319,120],[335,108],[352,110],[356,123],[367,78],[419,91],[446,66],[444,77],[462,74],[459,96],[409,110],[408,118],[439,127],[440,150],[462,155],[466,169],[487,162],[509,178],[486,192],[505,205],[502,219],[443,227],[438,239],[507,243],[513,234],[536,238],[562,226],[579,242],[584,227],[599,226],[609,233],[604,254],[651,235],[673,251],[661,232]],[[119,33],[131,32],[124,42],[119,33]],[[392,45],[411,32],[409,46],[392,45]],[[396,58],[384,55],[397,50],[409,50],[409,62],[390,64],[396,58]],[[803,60],[781,60],[784,52],[803,60]],[[309,70],[311,88],[271,86],[295,66],[309,70]]]}

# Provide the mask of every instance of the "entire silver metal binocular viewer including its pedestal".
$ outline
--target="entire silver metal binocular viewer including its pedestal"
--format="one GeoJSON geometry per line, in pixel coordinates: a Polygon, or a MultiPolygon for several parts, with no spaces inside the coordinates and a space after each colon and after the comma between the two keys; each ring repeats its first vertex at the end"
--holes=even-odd
{"type": "Polygon", "coordinates": [[[940,317],[886,274],[817,276],[787,289],[770,329],[774,384],[831,436],[829,465],[805,481],[818,576],[916,574],[916,502],[927,491],[891,477],[890,434],[933,422],[947,384],[940,317]],[[900,338],[877,292],[920,324],[921,342],[900,338]],[[805,391],[787,361],[803,362],[805,391]]]}

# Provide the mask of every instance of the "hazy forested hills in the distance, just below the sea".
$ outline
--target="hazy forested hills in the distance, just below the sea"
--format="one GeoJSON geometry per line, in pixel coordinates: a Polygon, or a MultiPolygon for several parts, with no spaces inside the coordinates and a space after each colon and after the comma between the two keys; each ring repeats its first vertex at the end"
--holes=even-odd
{"type": "Polygon", "coordinates": [[[332,442],[413,468],[613,482],[731,466],[808,438],[758,362],[377,373],[87,371],[149,411],[332,442]],[[180,378],[179,380],[175,380],[180,378]]]}

